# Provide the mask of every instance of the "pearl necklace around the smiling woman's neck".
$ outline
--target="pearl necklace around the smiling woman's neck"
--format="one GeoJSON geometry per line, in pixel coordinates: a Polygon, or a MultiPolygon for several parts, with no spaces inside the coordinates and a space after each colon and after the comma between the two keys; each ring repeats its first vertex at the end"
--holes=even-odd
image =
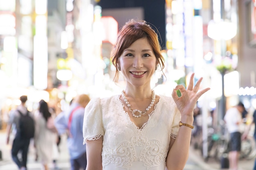
{"type": "Polygon", "coordinates": [[[127,104],[129,110],[132,112],[132,116],[133,117],[141,117],[141,115],[145,115],[145,113],[153,106],[153,104],[155,103],[155,91],[152,90],[152,101],[151,103],[149,104],[149,106],[146,108],[145,111],[140,111],[138,109],[133,109],[131,108],[131,105],[130,103],[128,102],[128,99],[126,98],[125,94],[124,94],[124,91],[122,91],[122,97],[124,98],[124,102],[127,104]],[[139,114],[138,115],[135,115],[135,113],[138,112],[139,114]]]}

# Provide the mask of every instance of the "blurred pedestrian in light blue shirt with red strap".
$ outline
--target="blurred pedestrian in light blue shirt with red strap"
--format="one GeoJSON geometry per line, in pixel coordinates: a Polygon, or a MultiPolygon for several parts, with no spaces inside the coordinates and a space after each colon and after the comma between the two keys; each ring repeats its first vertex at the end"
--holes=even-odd
{"type": "Polygon", "coordinates": [[[85,170],[86,147],[83,146],[83,116],[84,110],[90,101],[88,95],[82,94],[76,97],[67,111],[59,114],[55,119],[55,125],[60,134],[67,132],[67,147],[70,153],[71,170],[85,170]]]}

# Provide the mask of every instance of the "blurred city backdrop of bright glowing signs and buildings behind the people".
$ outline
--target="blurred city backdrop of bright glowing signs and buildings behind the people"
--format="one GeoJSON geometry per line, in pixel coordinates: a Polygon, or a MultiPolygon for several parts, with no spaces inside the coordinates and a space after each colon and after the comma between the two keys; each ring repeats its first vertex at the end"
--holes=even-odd
{"type": "MultiPolygon", "coordinates": [[[[16,169],[6,145],[9,116],[27,95],[32,113],[44,99],[54,115],[79,94],[121,94],[124,81],[112,81],[110,51],[129,19],[146,20],[159,33],[163,71],[151,86],[171,96],[177,84],[203,77],[191,155],[185,170],[220,169],[228,135],[227,109],[243,102],[244,130],[256,108],[255,0],[0,0],[0,170],[16,169]],[[207,167],[207,166],[210,166],[207,167]]],[[[239,166],[251,170],[255,159],[254,125],[242,143],[239,166]]],[[[69,169],[65,137],[59,168],[69,169]]],[[[29,169],[39,169],[29,151],[29,169]]]]}

